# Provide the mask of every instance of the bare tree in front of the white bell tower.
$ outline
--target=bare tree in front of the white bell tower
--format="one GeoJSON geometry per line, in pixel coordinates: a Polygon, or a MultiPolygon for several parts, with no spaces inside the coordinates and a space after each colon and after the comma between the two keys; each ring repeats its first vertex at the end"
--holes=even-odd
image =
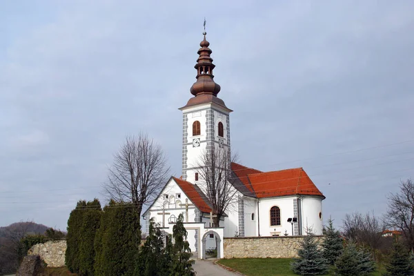
{"type": "Polygon", "coordinates": [[[235,159],[230,150],[213,148],[204,151],[197,162],[202,181],[199,188],[212,206],[214,227],[219,227],[221,217],[237,203],[237,190],[231,184],[231,161],[235,159]]]}

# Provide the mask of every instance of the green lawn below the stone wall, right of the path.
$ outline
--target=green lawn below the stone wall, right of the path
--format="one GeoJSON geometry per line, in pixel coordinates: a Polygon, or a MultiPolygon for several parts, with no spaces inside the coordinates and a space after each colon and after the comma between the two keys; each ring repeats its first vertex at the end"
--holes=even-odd
{"type": "MultiPolygon", "coordinates": [[[[220,259],[219,264],[233,268],[247,276],[290,276],[296,275],[290,270],[292,259],[220,259]]],[[[381,272],[384,272],[381,270],[381,272]]],[[[333,271],[328,275],[334,275],[333,271]]],[[[373,276],[382,273],[375,272],[373,276]]]]}

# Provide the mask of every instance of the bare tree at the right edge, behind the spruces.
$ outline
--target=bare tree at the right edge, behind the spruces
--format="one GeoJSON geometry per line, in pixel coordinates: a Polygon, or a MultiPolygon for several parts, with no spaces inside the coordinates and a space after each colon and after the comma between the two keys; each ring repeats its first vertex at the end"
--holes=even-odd
{"type": "Polygon", "coordinates": [[[414,252],[414,183],[412,179],[401,181],[400,193],[391,193],[388,196],[388,210],[384,220],[388,227],[402,232],[408,246],[414,252]]]}

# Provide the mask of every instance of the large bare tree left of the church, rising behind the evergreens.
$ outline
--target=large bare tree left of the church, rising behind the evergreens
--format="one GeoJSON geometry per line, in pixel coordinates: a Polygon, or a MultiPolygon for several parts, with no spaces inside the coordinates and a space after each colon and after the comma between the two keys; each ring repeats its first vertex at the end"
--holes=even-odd
{"type": "Polygon", "coordinates": [[[161,146],[148,135],[128,136],[115,154],[104,189],[110,199],[135,204],[141,214],[166,183],[169,170],[161,146]]]}

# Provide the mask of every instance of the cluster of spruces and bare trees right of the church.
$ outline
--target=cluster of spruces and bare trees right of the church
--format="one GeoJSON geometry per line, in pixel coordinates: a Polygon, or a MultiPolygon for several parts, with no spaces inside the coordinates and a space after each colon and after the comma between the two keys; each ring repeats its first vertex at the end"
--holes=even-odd
{"type": "Polygon", "coordinates": [[[414,183],[402,181],[400,193],[388,196],[388,211],[383,219],[373,213],[346,215],[343,233],[328,220],[324,239],[318,243],[311,228],[291,264],[298,275],[370,275],[378,264],[385,267],[386,276],[414,275],[414,183]],[[386,228],[394,228],[390,237],[386,228]]]}

